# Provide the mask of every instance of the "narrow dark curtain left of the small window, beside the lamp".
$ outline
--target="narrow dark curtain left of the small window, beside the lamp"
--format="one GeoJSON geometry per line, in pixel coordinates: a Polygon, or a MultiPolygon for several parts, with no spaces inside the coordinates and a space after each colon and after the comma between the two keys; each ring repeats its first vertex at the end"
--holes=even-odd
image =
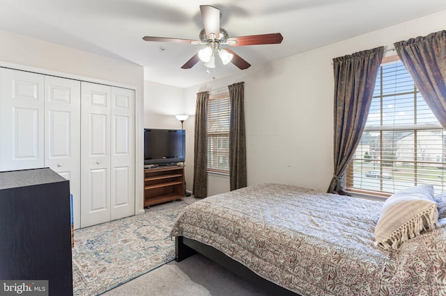
{"type": "Polygon", "coordinates": [[[195,197],[208,196],[208,98],[209,92],[197,93],[195,107],[195,137],[194,137],[194,188],[195,197]]]}

